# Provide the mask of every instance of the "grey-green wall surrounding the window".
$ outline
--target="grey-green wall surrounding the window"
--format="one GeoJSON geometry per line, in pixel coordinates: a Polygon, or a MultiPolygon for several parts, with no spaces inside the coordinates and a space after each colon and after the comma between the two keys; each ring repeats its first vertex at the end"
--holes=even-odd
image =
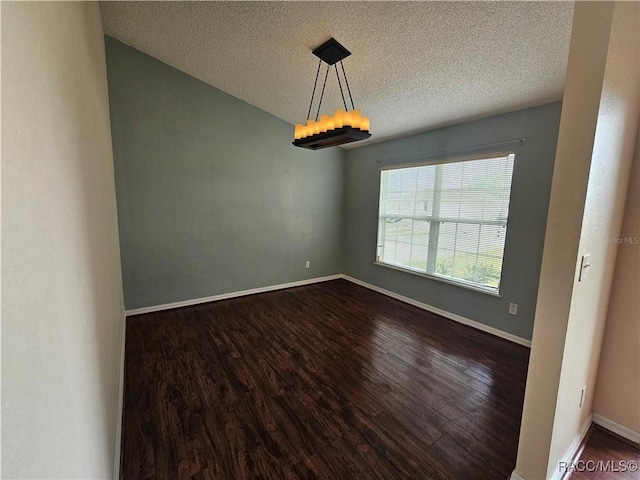
{"type": "Polygon", "coordinates": [[[560,107],[560,103],[553,103],[349,150],[344,180],[344,273],[531,339],[560,107]],[[455,157],[508,150],[516,154],[501,298],[374,264],[380,189],[378,162],[401,165],[437,152],[521,137],[528,139],[523,145],[475,148],[453,154],[455,157]],[[519,305],[517,316],[508,314],[509,302],[519,305]]]}

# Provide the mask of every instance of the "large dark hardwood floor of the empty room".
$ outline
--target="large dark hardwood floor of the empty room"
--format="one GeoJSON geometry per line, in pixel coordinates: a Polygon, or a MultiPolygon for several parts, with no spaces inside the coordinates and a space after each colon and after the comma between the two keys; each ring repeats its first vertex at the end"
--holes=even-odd
{"type": "Polygon", "coordinates": [[[121,478],[504,480],[528,355],[345,280],[130,317],[121,478]]]}

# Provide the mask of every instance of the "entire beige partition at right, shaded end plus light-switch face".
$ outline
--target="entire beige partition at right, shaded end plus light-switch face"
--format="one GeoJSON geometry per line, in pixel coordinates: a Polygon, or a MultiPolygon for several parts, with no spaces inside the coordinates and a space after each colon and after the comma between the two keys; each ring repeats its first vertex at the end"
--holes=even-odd
{"type": "Polygon", "coordinates": [[[638,121],[637,39],[638,4],[576,4],[516,465],[530,480],[559,478],[591,415],[616,261],[605,238],[620,234],[638,121]]]}

